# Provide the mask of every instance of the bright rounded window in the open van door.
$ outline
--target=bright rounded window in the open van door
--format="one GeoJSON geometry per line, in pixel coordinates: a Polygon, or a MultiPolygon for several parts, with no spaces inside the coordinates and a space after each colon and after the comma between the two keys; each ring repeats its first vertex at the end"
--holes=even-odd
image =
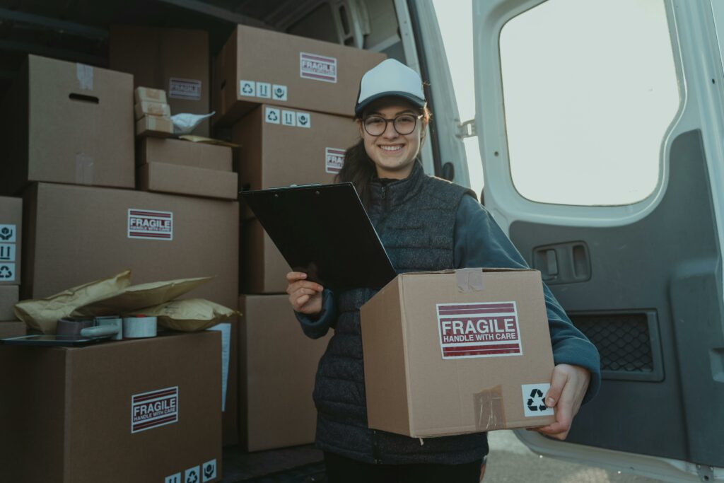
{"type": "Polygon", "coordinates": [[[663,1],[546,1],[503,27],[500,62],[521,196],[593,206],[653,192],[681,103],[663,1]]]}

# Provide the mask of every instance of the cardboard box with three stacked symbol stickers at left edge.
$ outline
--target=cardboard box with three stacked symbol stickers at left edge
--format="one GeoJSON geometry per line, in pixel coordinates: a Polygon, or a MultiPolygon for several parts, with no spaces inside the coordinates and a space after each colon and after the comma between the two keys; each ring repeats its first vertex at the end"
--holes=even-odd
{"type": "Polygon", "coordinates": [[[0,287],[20,285],[21,232],[22,198],[0,196],[0,287]]]}

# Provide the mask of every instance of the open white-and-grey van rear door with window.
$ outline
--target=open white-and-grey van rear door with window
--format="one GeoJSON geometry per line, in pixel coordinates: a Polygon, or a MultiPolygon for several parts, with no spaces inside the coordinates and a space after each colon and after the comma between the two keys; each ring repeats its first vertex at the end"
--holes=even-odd
{"type": "Polygon", "coordinates": [[[602,359],[537,453],[724,479],[720,4],[473,0],[486,206],[602,359]]]}

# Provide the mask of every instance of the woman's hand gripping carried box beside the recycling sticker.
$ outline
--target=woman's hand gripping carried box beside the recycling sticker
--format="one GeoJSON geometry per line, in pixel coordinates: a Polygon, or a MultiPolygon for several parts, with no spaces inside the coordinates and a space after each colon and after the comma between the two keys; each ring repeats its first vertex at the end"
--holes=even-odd
{"type": "Polygon", "coordinates": [[[571,366],[571,364],[555,366],[550,389],[545,396],[546,406],[555,408],[555,423],[536,428],[535,431],[555,437],[557,440],[565,440],[571,431],[573,416],[576,416],[578,409],[581,408],[581,401],[584,399],[590,380],[591,373],[581,366],[571,366]]]}

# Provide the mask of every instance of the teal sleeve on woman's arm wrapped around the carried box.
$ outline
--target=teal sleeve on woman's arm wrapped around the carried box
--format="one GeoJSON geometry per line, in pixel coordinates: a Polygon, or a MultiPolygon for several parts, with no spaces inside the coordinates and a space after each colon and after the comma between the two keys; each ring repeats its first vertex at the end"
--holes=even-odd
{"type": "MultiPolygon", "coordinates": [[[[455,268],[529,268],[521,253],[500,229],[489,212],[475,199],[464,196],[455,217],[455,268]]],[[[571,364],[588,369],[591,382],[584,403],[601,385],[601,364],[596,347],[573,326],[563,307],[547,285],[543,295],[555,364],[571,364]]]]}

